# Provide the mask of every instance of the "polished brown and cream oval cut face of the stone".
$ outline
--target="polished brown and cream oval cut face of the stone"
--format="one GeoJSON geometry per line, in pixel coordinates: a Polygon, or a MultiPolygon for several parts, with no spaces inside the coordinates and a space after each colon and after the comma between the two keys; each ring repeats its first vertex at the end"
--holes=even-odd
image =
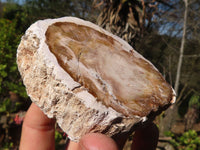
{"type": "Polygon", "coordinates": [[[46,43],[75,81],[126,116],[146,116],[172,99],[171,87],[152,64],[103,31],[57,22],[48,27],[46,43]]]}

